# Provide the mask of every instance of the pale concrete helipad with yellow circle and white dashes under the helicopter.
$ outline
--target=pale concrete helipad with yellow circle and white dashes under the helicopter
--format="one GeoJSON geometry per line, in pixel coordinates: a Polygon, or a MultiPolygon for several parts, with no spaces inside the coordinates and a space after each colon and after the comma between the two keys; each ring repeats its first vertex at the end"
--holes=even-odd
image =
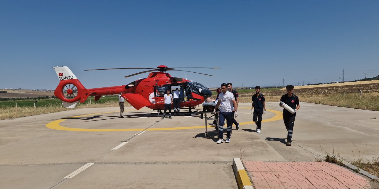
{"type": "Polygon", "coordinates": [[[147,108],[126,107],[125,118],[114,107],[1,120],[0,188],[236,189],[237,157],[312,162],[333,149],[347,161],[379,155],[379,120],[370,119],[378,112],[301,102],[288,147],[282,108],[266,106],[258,134],[251,104],[240,104],[240,130],[233,126],[231,142],[222,144],[204,138],[198,116],[161,119],[147,108]]]}

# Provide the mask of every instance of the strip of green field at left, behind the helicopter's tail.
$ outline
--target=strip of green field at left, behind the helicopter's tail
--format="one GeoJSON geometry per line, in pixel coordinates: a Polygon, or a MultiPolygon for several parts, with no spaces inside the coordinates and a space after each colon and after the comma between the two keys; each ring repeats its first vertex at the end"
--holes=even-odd
{"type": "MultiPolygon", "coordinates": [[[[98,101],[94,101],[95,97],[90,96],[88,97],[87,101],[84,102],[83,104],[89,104],[89,103],[103,103],[107,101],[118,101],[118,96],[105,96],[101,97],[98,101]]],[[[33,100],[16,100],[16,101],[0,101],[0,107],[4,106],[17,106],[18,107],[34,107],[34,102],[36,102],[36,107],[47,107],[50,106],[50,102],[52,105],[61,105],[62,101],[57,98],[52,98],[52,99],[33,99],[33,100]]]]}

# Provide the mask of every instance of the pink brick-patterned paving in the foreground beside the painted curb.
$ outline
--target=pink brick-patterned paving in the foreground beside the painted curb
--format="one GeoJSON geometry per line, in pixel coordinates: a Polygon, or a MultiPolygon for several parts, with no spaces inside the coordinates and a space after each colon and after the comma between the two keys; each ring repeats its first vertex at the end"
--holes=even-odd
{"type": "Polygon", "coordinates": [[[328,162],[243,161],[255,189],[368,189],[368,180],[328,162]]]}

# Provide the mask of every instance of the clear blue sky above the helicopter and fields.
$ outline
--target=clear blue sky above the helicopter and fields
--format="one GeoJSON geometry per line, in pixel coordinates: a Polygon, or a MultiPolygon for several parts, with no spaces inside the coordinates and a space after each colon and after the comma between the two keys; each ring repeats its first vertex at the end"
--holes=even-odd
{"type": "Polygon", "coordinates": [[[379,74],[379,1],[0,0],[0,88],[55,89],[68,66],[86,88],[144,70],[207,87],[314,84],[379,74]]]}

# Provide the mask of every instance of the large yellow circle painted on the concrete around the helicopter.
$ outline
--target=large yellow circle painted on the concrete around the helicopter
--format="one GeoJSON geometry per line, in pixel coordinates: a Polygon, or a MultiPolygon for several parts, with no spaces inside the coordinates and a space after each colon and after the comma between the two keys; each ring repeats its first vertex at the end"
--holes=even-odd
{"type": "MultiPolygon", "coordinates": [[[[245,108],[245,107],[240,107],[245,108]]],[[[249,108],[250,109],[250,108],[249,108]]],[[[129,110],[129,111],[136,111],[136,110],[129,110]]],[[[116,111],[118,112],[118,111],[116,111]]],[[[92,113],[87,115],[80,115],[80,116],[73,116],[70,118],[80,118],[83,116],[91,116],[91,115],[97,115],[97,114],[105,114],[105,113],[116,113],[116,112],[103,112],[103,113],[92,113]]],[[[277,110],[267,110],[267,112],[273,112],[275,113],[275,116],[269,119],[263,119],[262,122],[269,122],[269,121],[277,121],[280,119],[283,119],[282,112],[279,112],[277,110]]],[[[66,130],[66,131],[84,131],[84,132],[119,132],[119,131],[141,131],[145,130],[143,128],[141,129],[82,129],[82,128],[71,128],[71,127],[63,127],[60,125],[61,122],[63,122],[66,119],[58,119],[55,121],[52,121],[48,124],[46,124],[47,128],[55,129],[55,130],[66,130]]],[[[254,121],[248,121],[248,122],[241,122],[240,125],[247,125],[247,124],[254,124],[254,121]]],[[[182,130],[182,129],[204,129],[205,126],[191,126],[191,127],[166,127],[166,128],[149,128],[146,130],[182,130]]]]}

